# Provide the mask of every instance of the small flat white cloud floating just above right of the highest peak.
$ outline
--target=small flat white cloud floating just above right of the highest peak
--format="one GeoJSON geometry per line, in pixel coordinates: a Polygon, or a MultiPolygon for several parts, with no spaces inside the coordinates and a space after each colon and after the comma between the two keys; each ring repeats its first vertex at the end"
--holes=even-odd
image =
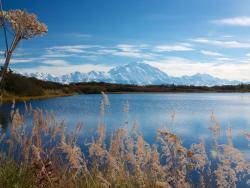
{"type": "Polygon", "coordinates": [[[182,44],[176,45],[159,45],[155,47],[156,52],[173,52],[173,51],[193,51],[194,49],[182,44]]]}

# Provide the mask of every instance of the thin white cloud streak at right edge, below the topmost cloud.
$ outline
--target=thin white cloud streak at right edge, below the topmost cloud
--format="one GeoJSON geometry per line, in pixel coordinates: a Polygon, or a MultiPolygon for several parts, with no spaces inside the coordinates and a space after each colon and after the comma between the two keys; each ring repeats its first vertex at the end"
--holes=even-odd
{"type": "Polygon", "coordinates": [[[192,41],[223,48],[250,48],[250,43],[239,42],[236,40],[213,40],[207,38],[196,38],[193,39],[192,41]]]}

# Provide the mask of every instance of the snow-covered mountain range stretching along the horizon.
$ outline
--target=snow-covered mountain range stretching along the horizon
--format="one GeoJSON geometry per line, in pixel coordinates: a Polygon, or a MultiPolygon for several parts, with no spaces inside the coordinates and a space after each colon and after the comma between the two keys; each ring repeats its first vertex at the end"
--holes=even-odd
{"type": "Polygon", "coordinates": [[[130,63],[127,65],[121,65],[109,70],[108,72],[73,72],[62,76],[53,76],[48,73],[25,73],[24,75],[60,83],[108,82],[136,85],[175,84],[195,86],[236,85],[241,83],[239,81],[219,79],[208,74],[173,77],[167,75],[158,68],[145,63],[130,63]]]}

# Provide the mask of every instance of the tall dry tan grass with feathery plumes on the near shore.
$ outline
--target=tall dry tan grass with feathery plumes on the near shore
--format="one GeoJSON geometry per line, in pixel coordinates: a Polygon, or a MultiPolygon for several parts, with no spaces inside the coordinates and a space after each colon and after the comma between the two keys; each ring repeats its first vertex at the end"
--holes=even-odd
{"type": "MultiPolygon", "coordinates": [[[[103,93],[102,116],[109,105],[103,93]]],[[[52,114],[28,105],[25,109],[22,115],[13,104],[10,134],[1,136],[0,187],[185,188],[250,183],[250,162],[234,147],[230,128],[228,143],[219,143],[221,128],[214,114],[209,154],[204,140],[185,148],[181,139],[168,130],[159,130],[154,144],[147,143],[134,126],[107,136],[103,122],[96,135],[83,140],[79,137],[81,124],[66,134],[64,122],[57,122],[52,114]],[[30,116],[31,124],[26,121],[30,116]]],[[[128,102],[124,113],[129,113],[128,102]]],[[[175,120],[173,116],[175,113],[175,120]]],[[[243,136],[249,140],[248,133],[243,136]]]]}

